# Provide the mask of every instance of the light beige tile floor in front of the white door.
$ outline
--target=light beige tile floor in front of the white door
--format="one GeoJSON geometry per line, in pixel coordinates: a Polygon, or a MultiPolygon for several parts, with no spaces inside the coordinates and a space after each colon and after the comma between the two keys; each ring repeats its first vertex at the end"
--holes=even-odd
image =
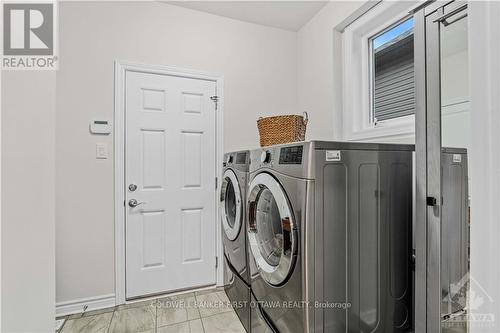
{"type": "Polygon", "coordinates": [[[67,317],[59,333],[244,333],[224,289],[185,293],[67,317]]]}

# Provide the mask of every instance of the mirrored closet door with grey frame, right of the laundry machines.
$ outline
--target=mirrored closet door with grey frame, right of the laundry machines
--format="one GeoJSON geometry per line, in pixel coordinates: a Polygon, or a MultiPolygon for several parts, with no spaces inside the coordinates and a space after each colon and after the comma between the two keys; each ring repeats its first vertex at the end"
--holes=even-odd
{"type": "Polygon", "coordinates": [[[415,315],[417,323],[425,319],[416,332],[467,332],[473,207],[467,3],[434,2],[415,20],[416,222],[424,244],[417,248],[415,315]]]}

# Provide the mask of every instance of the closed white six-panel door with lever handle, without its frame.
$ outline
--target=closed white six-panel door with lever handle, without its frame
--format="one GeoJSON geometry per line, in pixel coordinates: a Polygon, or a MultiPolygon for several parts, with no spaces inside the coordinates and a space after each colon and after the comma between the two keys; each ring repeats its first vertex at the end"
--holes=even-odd
{"type": "Polygon", "coordinates": [[[125,80],[126,297],[215,284],[216,83],[125,80]]]}

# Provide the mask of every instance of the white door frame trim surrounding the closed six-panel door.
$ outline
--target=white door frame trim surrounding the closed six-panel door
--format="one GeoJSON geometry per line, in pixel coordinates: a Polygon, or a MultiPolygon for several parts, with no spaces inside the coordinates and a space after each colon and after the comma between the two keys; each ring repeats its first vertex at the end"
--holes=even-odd
{"type": "MultiPolygon", "coordinates": [[[[224,76],[218,73],[185,69],[172,66],[146,65],[128,61],[115,61],[115,110],[114,110],[114,190],[115,190],[115,298],[116,304],[126,303],[125,299],[125,73],[127,71],[162,74],[192,79],[209,80],[216,83],[219,97],[216,110],[216,175],[222,179],[223,158],[223,110],[224,76]]],[[[214,205],[216,224],[217,285],[223,284],[222,238],[218,198],[220,186],[215,192],[214,205]]]]}

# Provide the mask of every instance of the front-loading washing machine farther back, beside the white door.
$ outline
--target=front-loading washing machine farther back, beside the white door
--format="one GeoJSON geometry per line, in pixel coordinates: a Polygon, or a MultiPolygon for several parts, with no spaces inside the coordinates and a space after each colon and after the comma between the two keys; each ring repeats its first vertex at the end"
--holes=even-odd
{"type": "Polygon", "coordinates": [[[250,331],[250,278],[245,222],[249,151],[224,156],[220,216],[224,248],[224,289],[236,314],[250,331]]]}

